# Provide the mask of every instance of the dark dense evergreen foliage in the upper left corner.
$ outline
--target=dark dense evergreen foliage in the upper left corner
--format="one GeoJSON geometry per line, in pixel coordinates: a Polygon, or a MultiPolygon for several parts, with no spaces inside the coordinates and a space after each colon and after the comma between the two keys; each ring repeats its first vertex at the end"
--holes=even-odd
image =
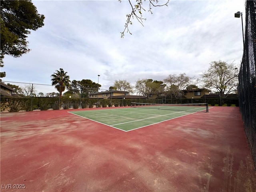
{"type": "Polygon", "coordinates": [[[5,54],[20,57],[30,51],[26,38],[30,30],[44,26],[44,15],[38,14],[31,0],[1,1],[1,60],[5,54]]]}

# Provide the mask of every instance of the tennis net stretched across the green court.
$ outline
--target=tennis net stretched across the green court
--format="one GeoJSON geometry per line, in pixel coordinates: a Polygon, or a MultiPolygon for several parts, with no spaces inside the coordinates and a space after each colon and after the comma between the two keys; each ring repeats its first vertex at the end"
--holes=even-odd
{"type": "Polygon", "coordinates": [[[131,107],[136,108],[150,108],[162,110],[178,110],[178,111],[192,111],[192,112],[209,112],[207,103],[192,103],[192,104],[154,104],[154,103],[136,103],[131,102],[131,107]]]}

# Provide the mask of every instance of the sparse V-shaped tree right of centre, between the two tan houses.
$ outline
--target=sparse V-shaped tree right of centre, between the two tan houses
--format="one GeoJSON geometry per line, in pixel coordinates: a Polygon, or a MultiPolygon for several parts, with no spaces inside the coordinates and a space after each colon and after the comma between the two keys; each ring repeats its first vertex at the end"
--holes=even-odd
{"type": "Polygon", "coordinates": [[[178,76],[176,74],[170,74],[168,78],[164,79],[164,82],[167,84],[168,92],[174,95],[176,98],[179,98],[184,90],[189,84],[192,78],[186,76],[185,73],[181,73],[178,76]]]}

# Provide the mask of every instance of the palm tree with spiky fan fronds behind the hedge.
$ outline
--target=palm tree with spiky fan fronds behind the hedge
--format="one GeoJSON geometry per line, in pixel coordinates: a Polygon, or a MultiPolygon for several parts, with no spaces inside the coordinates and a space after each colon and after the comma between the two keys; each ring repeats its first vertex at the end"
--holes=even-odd
{"type": "Polygon", "coordinates": [[[56,70],[57,72],[52,74],[52,85],[55,85],[55,88],[60,92],[60,97],[62,97],[62,92],[64,92],[66,86],[70,86],[69,76],[67,72],[64,72],[63,69],[56,70]]]}

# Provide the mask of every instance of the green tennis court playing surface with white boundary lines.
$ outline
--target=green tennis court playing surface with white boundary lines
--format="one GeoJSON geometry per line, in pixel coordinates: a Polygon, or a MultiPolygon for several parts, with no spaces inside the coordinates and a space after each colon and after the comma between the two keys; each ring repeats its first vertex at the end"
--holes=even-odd
{"type": "Polygon", "coordinates": [[[206,112],[206,106],[142,105],[70,113],[116,129],[130,131],[199,111],[206,112]]]}

